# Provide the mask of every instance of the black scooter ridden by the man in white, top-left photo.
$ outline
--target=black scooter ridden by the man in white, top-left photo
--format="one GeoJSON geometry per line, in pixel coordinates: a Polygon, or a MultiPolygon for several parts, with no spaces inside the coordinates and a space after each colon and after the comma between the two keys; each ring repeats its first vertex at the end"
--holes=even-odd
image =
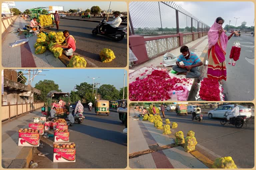
{"type": "Polygon", "coordinates": [[[99,23],[99,25],[96,26],[95,29],[92,30],[92,34],[93,35],[97,35],[97,34],[100,34],[102,36],[106,36],[106,37],[109,37],[111,39],[113,39],[114,41],[121,41],[124,39],[125,35],[127,35],[127,31],[126,31],[126,28],[127,27],[117,27],[117,28],[113,28],[115,29],[115,32],[113,33],[110,33],[110,34],[102,34],[102,27],[104,26],[104,24],[106,23],[107,21],[105,20],[105,18],[99,23]]]}

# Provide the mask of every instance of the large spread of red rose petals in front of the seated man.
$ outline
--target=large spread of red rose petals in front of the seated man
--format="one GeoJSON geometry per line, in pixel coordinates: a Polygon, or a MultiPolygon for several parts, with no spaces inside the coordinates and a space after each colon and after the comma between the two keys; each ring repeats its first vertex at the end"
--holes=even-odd
{"type": "MultiPolygon", "coordinates": [[[[154,70],[143,79],[136,78],[136,81],[129,84],[129,99],[131,101],[163,101],[170,99],[168,92],[174,90],[176,83],[183,80],[171,78],[167,71],[154,70]]],[[[182,90],[182,86],[175,87],[175,90],[182,90]]]]}

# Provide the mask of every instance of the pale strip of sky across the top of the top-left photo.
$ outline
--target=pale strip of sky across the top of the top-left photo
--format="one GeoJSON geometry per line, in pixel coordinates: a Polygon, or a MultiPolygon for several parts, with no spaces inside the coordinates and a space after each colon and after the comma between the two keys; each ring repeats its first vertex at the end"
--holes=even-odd
{"type": "MultiPolygon", "coordinates": [[[[82,8],[82,10],[86,10],[87,8],[91,9],[92,6],[99,6],[100,9],[102,10],[108,10],[109,8],[109,2],[93,2],[93,1],[88,1],[88,2],[75,2],[75,1],[70,1],[70,2],[55,2],[55,1],[36,1],[36,2],[19,2],[15,1],[15,5],[17,9],[19,9],[21,12],[25,11],[26,9],[30,8],[36,8],[36,7],[49,7],[49,6],[64,6],[64,11],[68,11],[69,9],[77,9],[77,8],[82,8]]],[[[110,9],[115,10],[115,11],[120,11],[120,12],[125,12],[127,11],[127,4],[126,2],[111,2],[111,7],[110,9]]]]}

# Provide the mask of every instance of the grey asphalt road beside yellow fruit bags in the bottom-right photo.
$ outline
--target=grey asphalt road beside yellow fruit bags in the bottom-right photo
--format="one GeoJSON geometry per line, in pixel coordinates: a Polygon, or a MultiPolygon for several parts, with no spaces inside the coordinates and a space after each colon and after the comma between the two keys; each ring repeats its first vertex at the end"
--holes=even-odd
{"type": "Polygon", "coordinates": [[[254,167],[254,119],[247,128],[237,129],[232,125],[222,126],[219,119],[209,119],[207,114],[203,114],[202,122],[192,121],[191,116],[165,112],[165,117],[171,123],[176,122],[184,135],[193,130],[198,144],[223,157],[231,156],[241,168],[254,167]]]}

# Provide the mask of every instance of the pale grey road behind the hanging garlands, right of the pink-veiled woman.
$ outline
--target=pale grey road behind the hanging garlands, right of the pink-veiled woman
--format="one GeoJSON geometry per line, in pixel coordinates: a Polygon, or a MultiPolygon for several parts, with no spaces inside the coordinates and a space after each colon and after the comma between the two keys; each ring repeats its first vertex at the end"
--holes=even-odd
{"type": "MultiPolygon", "coordinates": [[[[227,34],[229,36],[230,34],[227,34]]],[[[254,37],[232,37],[226,54],[227,81],[223,83],[226,101],[252,101],[254,99],[254,37]],[[231,47],[240,40],[241,53],[236,65],[228,64],[231,47]]]]}

